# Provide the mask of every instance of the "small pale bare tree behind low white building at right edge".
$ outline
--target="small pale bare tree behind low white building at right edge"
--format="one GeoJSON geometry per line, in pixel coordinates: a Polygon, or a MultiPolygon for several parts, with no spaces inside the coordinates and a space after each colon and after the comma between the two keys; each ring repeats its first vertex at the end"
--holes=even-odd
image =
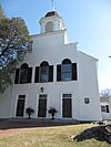
{"type": "Polygon", "coordinates": [[[109,88],[102,90],[100,92],[101,99],[109,99],[110,96],[111,96],[111,90],[109,90],[109,88]]]}

